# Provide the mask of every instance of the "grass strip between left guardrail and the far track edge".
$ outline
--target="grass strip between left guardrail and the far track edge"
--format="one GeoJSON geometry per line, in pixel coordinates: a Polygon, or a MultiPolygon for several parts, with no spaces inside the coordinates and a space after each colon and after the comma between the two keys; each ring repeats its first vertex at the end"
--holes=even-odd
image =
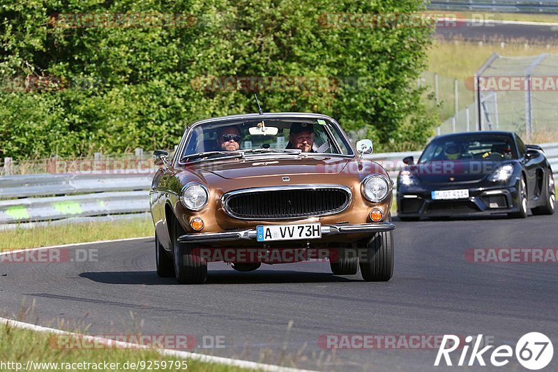
{"type": "Polygon", "coordinates": [[[32,229],[17,228],[0,231],[0,251],[153,235],[153,222],[149,217],[115,222],[69,223],[32,229]]]}

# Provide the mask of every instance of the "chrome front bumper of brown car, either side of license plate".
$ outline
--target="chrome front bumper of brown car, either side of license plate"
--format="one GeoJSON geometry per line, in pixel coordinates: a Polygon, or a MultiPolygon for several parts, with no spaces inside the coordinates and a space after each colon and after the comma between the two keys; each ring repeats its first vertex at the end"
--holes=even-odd
{"type": "MultiPolygon", "coordinates": [[[[395,229],[395,225],[391,222],[363,223],[361,225],[324,225],[322,226],[322,237],[324,235],[366,234],[393,229],[395,229]]],[[[231,241],[239,239],[256,240],[256,230],[198,232],[197,234],[186,234],[179,237],[181,243],[211,243],[212,241],[231,241]]]]}

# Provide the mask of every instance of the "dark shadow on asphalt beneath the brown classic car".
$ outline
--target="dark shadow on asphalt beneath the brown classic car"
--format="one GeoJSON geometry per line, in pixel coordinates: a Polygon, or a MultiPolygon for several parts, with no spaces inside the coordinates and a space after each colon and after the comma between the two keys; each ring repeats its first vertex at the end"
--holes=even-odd
{"type": "MultiPolygon", "coordinates": [[[[81,278],[105,284],[178,285],[174,278],[159,278],[155,271],[98,271],[84,272],[81,278]]],[[[205,285],[211,284],[267,284],[267,283],[339,283],[362,281],[360,275],[335,276],[327,273],[261,270],[237,272],[208,270],[205,285]]]]}

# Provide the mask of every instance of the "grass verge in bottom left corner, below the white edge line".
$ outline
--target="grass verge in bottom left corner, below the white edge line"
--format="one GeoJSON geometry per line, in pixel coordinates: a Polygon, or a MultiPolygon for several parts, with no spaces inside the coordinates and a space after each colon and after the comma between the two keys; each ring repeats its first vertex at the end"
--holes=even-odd
{"type": "MultiPolygon", "coordinates": [[[[93,350],[83,348],[56,348],[52,345],[52,334],[44,332],[34,332],[27,329],[9,327],[5,323],[0,323],[0,362],[18,362],[26,366],[27,361],[43,363],[120,363],[120,371],[123,371],[125,362],[162,362],[170,361],[182,362],[183,359],[167,357],[158,354],[155,350],[126,349],[126,348],[95,348],[93,350]]],[[[55,336],[54,336],[55,337],[55,336]]],[[[188,371],[218,371],[236,372],[250,371],[237,367],[229,367],[220,364],[210,364],[187,360],[188,371]]],[[[8,371],[9,369],[3,369],[8,371]]],[[[58,369],[59,371],[94,371],[95,369],[58,369]]],[[[186,369],[159,369],[159,371],[185,371],[186,369]]],[[[28,370],[29,371],[29,370],[28,370]]],[[[55,369],[31,369],[30,371],[55,371],[55,369]]],[[[137,371],[147,371],[147,369],[137,369],[137,371]]]]}

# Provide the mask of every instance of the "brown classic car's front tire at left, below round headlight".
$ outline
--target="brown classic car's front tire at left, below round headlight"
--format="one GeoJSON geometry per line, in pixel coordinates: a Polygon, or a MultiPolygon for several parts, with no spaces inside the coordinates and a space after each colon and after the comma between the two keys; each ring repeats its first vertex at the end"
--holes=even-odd
{"type": "Polygon", "coordinates": [[[179,243],[178,238],[186,232],[176,218],[172,218],[172,245],[174,274],[179,284],[203,284],[207,278],[207,261],[202,260],[199,250],[192,244],[179,243]]]}

